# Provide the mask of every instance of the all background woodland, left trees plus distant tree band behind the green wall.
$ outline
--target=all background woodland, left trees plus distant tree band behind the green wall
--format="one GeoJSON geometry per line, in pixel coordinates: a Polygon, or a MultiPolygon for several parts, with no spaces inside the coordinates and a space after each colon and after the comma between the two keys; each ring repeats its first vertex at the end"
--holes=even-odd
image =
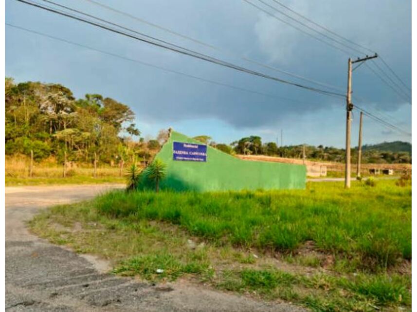
{"type": "MultiPolygon", "coordinates": [[[[92,163],[149,160],[164,142],[167,131],[145,141],[133,123],[135,115],[125,104],[99,94],[75,99],[72,91],[56,83],[21,82],[5,79],[5,154],[30,155],[36,161],[54,156],[92,163]]],[[[274,155],[302,158],[303,145],[278,147],[263,143],[259,136],[241,138],[231,144],[216,143],[208,135],[195,139],[228,154],[274,155]]],[[[344,161],[344,149],[305,146],[307,159],[344,161]]],[[[352,161],[357,148],[352,149],[352,161]]],[[[411,163],[411,144],[381,143],[363,146],[363,163],[411,163]]]]}

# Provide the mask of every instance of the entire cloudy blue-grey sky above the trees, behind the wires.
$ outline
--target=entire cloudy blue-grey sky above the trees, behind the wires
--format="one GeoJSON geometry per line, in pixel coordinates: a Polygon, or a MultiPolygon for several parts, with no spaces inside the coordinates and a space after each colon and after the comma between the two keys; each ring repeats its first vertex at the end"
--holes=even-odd
{"type": "MultiPolygon", "coordinates": [[[[339,94],[346,93],[348,58],[364,56],[358,51],[346,54],[290,27],[275,17],[304,29],[293,20],[273,13],[258,0],[94,0],[130,16],[90,0],[54,1],[238,66],[339,94]],[[275,17],[248,2],[263,5],[275,17]],[[272,67],[338,89],[328,89],[272,67]]],[[[285,11],[274,0],[262,1],[285,11]]],[[[279,1],[331,31],[378,52],[411,89],[411,1],[279,1]]],[[[214,141],[227,144],[244,136],[259,135],[263,142],[278,145],[344,146],[343,97],[319,94],[208,63],[16,0],[6,0],[5,7],[6,23],[84,46],[6,26],[7,77],[13,77],[16,82],[61,83],[77,98],[98,93],[125,103],[135,112],[136,125],[145,139],[155,137],[160,129],[172,127],[189,136],[209,135],[214,141]]],[[[326,41],[317,33],[315,36],[326,41]]],[[[358,48],[348,42],[347,45],[358,48]]],[[[369,65],[353,71],[353,103],[411,133],[411,105],[367,67],[377,69],[372,62],[390,73],[381,59],[368,61],[369,65]]],[[[395,77],[393,80],[401,85],[395,77]]],[[[357,145],[359,114],[358,110],[353,111],[352,146],[357,145]]],[[[364,117],[364,144],[395,140],[411,142],[411,136],[364,117]]]]}

